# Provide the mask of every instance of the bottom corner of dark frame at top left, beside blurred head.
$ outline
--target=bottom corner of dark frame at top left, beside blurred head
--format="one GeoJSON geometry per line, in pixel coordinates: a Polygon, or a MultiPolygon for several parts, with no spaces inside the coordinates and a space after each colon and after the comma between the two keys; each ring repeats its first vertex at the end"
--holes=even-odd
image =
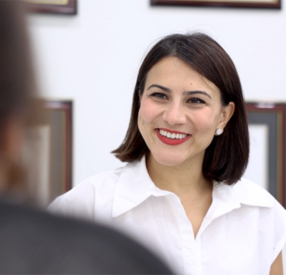
{"type": "Polygon", "coordinates": [[[77,14],[77,0],[25,0],[28,10],[35,13],[77,14]]]}

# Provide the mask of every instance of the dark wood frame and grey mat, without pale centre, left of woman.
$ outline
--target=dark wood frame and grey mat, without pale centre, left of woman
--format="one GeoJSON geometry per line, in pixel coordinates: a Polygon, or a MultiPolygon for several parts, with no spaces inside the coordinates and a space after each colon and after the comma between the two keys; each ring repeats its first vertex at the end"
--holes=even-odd
{"type": "Polygon", "coordinates": [[[72,111],[71,100],[43,100],[42,124],[51,129],[49,163],[51,202],[72,188],[72,111]]]}

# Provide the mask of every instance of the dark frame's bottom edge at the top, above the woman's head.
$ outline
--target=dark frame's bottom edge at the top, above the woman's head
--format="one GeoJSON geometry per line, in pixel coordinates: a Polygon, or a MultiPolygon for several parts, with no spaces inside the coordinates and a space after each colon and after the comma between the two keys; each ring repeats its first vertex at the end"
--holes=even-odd
{"type": "Polygon", "coordinates": [[[281,0],[151,0],[151,5],[281,9],[281,0]]]}

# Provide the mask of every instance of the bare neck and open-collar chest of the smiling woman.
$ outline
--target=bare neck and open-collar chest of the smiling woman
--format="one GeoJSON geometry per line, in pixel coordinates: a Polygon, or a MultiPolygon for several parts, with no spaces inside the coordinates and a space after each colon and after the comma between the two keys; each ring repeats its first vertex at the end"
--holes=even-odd
{"type": "Polygon", "coordinates": [[[199,161],[189,165],[166,166],[158,163],[151,155],[146,162],[155,185],[180,198],[191,222],[194,237],[212,202],[212,184],[203,176],[202,161],[201,164],[198,163],[199,161]]]}

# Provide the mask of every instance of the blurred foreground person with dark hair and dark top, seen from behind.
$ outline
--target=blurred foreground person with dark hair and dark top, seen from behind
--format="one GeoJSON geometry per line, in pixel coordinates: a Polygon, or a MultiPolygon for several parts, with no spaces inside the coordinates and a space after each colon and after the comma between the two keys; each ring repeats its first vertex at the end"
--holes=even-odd
{"type": "Polygon", "coordinates": [[[21,5],[0,1],[0,274],[170,274],[154,255],[112,229],[19,203],[31,190],[20,169],[21,146],[37,117],[21,5]]]}

